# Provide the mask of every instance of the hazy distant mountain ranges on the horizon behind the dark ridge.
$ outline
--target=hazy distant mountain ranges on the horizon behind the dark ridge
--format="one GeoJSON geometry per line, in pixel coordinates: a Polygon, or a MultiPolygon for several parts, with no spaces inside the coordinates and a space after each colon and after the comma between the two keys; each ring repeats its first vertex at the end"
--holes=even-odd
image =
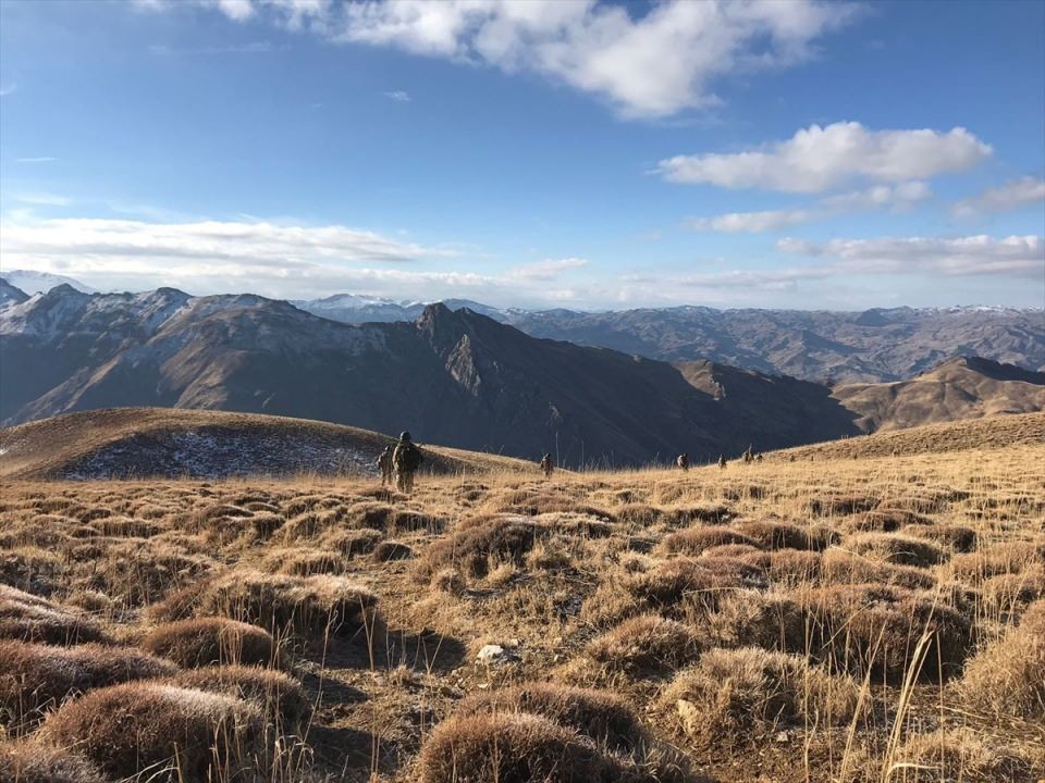
{"type": "MultiPolygon", "coordinates": [[[[295,303],[345,323],[413,321],[423,309],[416,302],[351,295],[295,303]]],[[[534,337],[672,362],[710,359],[807,381],[897,381],[958,355],[1045,369],[1041,310],[894,308],[855,313],[679,307],[582,313],[459,306],[534,337]]]]}

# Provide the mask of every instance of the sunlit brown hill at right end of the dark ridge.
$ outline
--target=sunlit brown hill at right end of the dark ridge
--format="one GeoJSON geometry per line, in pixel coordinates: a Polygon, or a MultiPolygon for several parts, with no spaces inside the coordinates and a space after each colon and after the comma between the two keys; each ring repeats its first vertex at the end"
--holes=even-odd
{"type": "Polygon", "coordinates": [[[1045,410],[1045,373],[979,358],[946,361],[911,381],[836,386],[863,432],[1045,410]]]}

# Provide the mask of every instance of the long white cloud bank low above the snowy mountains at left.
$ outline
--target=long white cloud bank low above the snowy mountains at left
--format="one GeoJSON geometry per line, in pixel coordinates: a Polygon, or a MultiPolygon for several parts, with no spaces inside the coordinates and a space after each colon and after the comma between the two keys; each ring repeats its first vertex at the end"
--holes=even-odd
{"type": "Polygon", "coordinates": [[[548,259],[494,274],[417,269],[459,253],[337,225],[34,220],[8,213],[0,229],[4,266],[71,275],[99,290],[174,286],[193,294],[250,291],[292,299],[366,291],[494,304],[577,301],[588,295],[555,285],[563,274],[587,265],[585,259],[548,259]]]}

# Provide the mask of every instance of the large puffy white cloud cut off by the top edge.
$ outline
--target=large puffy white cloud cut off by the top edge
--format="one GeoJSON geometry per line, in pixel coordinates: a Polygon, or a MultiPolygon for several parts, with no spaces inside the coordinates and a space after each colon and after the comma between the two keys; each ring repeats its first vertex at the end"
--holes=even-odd
{"type": "MultiPolygon", "coordinates": [[[[150,0],[150,7],[162,7],[150,0]]],[[[644,14],[595,0],[197,0],[242,21],[267,13],[331,40],[529,72],[660,117],[717,102],[735,73],[809,59],[855,4],[820,0],[663,0],[644,14]],[[250,7],[248,11],[245,5],[250,7]],[[671,52],[671,55],[665,55],[671,52]]]]}

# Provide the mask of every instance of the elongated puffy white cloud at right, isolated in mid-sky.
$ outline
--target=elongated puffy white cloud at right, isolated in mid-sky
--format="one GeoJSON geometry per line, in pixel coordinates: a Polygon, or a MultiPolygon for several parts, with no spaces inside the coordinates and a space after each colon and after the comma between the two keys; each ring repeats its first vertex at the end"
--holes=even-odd
{"type": "Polygon", "coordinates": [[[855,179],[902,182],[963,171],[991,153],[961,127],[869,130],[848,122],[812,125],[746,152],[676,156],[661,161],[657,172],[676,183],[822,192],[855,179]]]}

